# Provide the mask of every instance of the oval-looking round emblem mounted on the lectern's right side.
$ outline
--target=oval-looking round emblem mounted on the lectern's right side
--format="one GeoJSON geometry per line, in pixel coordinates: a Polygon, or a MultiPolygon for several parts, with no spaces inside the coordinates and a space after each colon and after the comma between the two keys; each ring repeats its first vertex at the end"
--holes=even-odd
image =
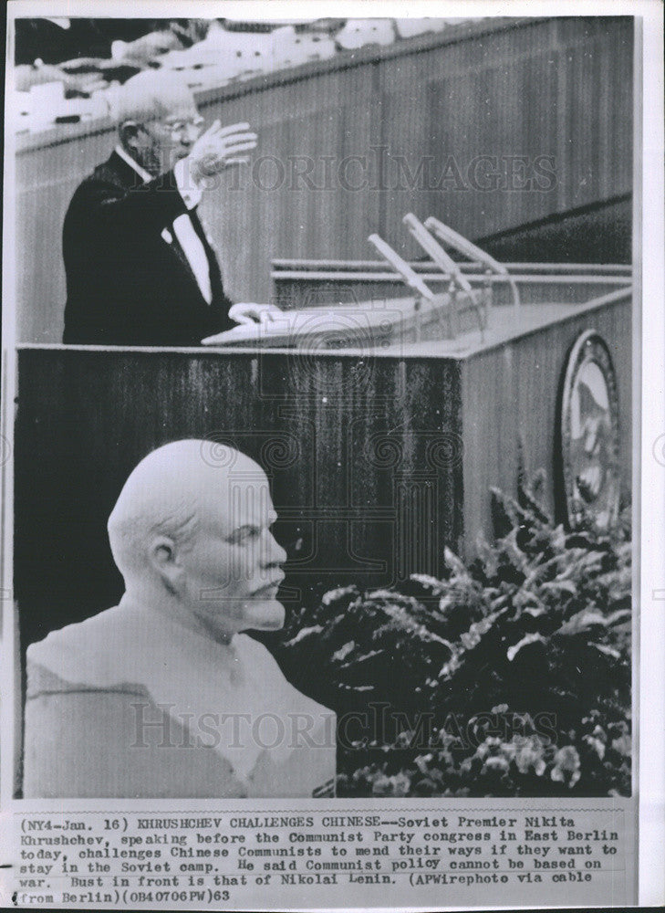
{"type": "Polygon", "coordinates": [[[619,502],[617,378],[595,330],[578,337],[566,363],[561,463],[568,525],[612,526],[619,502]]]}

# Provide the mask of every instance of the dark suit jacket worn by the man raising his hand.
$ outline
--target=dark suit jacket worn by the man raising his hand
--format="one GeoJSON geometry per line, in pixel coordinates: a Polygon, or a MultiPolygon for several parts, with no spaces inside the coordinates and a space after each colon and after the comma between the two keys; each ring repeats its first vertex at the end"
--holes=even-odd
{"type": "Polygon", "coordinates": [[[231,302],[195,210],[172,172],[143,184],[117,152],[79,185],[63,228],[66,343],[198,345],[228,330],[231,302]],[[189,212],[210,268],[213,302],[203,298],[173,232],[189,212]],[[164,229],[171,243],[162,236],[164,229]]]}

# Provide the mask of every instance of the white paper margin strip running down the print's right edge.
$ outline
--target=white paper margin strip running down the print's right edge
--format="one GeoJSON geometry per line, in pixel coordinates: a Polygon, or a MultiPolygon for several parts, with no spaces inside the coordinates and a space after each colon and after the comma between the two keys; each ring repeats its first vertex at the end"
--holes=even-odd
{"type": "Polygon", "coordinates": [[[660,3],[644,6],[643,123],[636,137],[642,159],[635,169],[637,181],[641,167],[643,181],[638,855],[639,903],[657,906],[665,901],[665,866],[653,865],[665,845],[663,31],[660,3]]]}

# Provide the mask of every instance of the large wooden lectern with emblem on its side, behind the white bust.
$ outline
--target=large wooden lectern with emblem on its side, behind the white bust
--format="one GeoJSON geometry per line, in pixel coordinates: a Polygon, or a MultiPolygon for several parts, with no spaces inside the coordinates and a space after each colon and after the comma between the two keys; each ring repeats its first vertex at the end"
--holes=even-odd
{"type": "Polygon", "coordinates": [[[213,346],[20,348],[26,642],[117,601],[109,510],[140,458],[180,437],[265,467],[292,606],[441,573],[445,546],[492,536],[490,488],[514,492],[521,470],[546,470],[562,520],[607,478],[628,491],[629,268],[511,265],[508,281],[476,260],[455,281],[431,257],[408,266],[421,289],[377,263],[281,261],[275,298],[307,307],[213,346]]]}

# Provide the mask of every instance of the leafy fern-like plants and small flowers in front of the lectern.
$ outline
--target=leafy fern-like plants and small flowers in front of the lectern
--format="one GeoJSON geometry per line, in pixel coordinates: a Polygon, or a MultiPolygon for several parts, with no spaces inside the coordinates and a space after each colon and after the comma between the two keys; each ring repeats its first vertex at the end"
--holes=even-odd
{"type": "Polygon", "coordinates": [[[631,545],[493,491],[498,538],[442,579],[326,593],[277,657],[338,714],[338,795],[630,793],[631,545]]]}

